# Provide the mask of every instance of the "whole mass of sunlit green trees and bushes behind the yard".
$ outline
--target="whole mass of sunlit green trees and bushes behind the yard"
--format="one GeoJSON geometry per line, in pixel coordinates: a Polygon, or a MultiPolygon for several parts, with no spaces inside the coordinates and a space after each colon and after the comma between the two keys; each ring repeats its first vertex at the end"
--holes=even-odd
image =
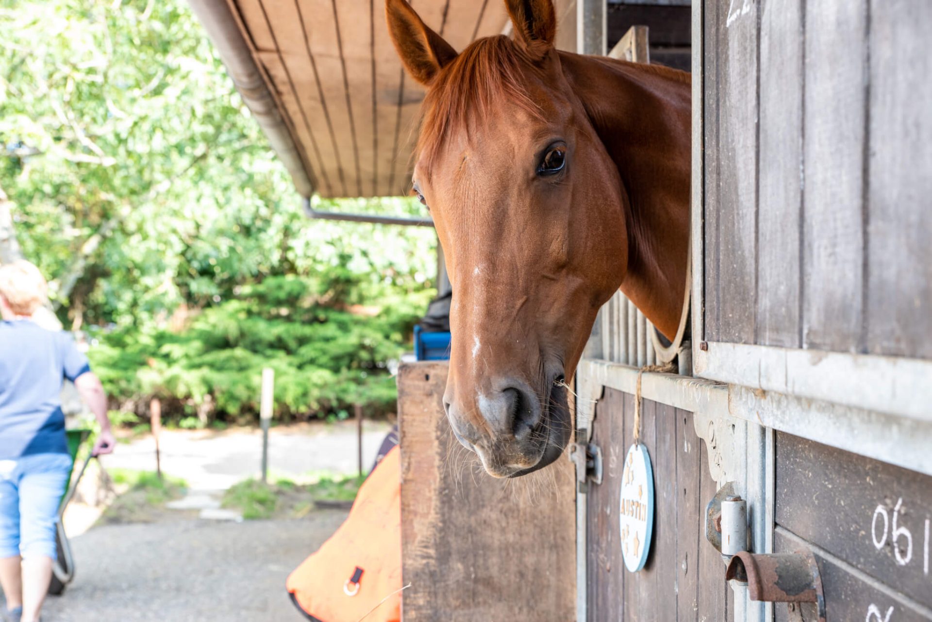
{"type": "Polygon", "coordinates": [[[282,418],[391,409],[431,229],[308,221],[183,0],[0,0],[0,33],[0,188],[116,406],[248,420],[271,366],[282,418]]]}

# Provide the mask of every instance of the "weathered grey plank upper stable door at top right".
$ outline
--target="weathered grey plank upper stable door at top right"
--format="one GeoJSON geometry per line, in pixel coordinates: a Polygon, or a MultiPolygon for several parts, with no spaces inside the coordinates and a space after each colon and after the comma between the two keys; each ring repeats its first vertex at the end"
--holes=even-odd
{"type": "Polygon", "coordinates": [[[706,339],[932,358],[932,3],[704,10],[706,339]]]}

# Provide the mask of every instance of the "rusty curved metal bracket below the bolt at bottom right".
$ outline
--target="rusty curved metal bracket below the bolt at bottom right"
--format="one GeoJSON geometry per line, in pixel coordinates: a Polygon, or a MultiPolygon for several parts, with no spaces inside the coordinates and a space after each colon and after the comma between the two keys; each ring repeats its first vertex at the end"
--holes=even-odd
{"type": "Polygon", "coordinates": [[[752,601],[786,602],[789,622],[825,622],[825,595],[811,551],[760,555],[735,553],[726,581],[747,585],[752,601]]]}

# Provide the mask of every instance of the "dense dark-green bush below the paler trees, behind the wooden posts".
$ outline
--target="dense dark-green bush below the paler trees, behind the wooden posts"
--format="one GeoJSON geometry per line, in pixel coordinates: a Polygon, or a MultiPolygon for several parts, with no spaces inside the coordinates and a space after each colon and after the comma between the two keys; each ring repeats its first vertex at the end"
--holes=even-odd
{"type": "Polygon", "coordinates": [[[144,414],[158,397],[163,417],[185,428],[255,421],[263,367],[275,370],[282,420],[338,419],[356,403],[370,413],[390,411],[396,393],[388,363],[404,350],[432,290],[382,292],[374,296],[381,310],[363,315],[348,304],[361,284],[348,283],[341,270],[327,276],[244,285],[239,297],[205,309],[177,333],[139,326],[99,332],[91,366],[124,408],[144,414]]]}

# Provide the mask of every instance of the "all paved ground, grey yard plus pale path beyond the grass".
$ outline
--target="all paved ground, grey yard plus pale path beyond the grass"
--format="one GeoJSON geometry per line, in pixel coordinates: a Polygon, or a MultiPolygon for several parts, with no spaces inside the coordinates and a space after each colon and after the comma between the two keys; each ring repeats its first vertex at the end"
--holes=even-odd
{"type": "MultiPolygon", "coordinates": [[[[371,465],[389,425],[367,422],[363,464],[371,465]]],[[[285,578],[346,518],[315,510],[286,520],[192,519],[190,509],[214,507],[227,487],[258,477],[261,435],[166,431],[162,469],[190,486],[180,505],[158,522],[93,526],[102,508],[69,506],[65,527],[75,557],[75,581],[49,597],[45,622],[287,622],[306,619],[284,589],[285,578]],[[206,505],[205,505],[206,504],[206,505]],[[190,506],[190,507],[188,507],[190,506]],[[175,518],[177,517],[177,518],[175,518]],[[84,524],[81,524],[82,519],[84,524]]],[[[270,475],[300,481],[313,471],[352,474],[357,468],[353,422],[276,428],[269,442],[270,475]]],[[[106,468],[154,470],[154,443],[143,437],[103,457],[106,468]]],[[[89,484],[93,482],[92,477],[89,484]]],[[[170,505],[171,506],[171,505],[170,505]]]]}

